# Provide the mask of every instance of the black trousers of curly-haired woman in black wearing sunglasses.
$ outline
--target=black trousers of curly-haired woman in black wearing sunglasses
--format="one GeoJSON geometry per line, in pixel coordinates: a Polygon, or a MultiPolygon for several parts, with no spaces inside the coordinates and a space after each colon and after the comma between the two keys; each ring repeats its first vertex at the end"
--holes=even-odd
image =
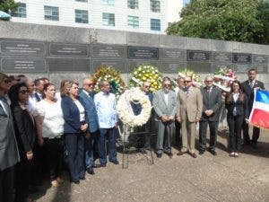
{"type": "Polygon", "coordinates": [[[16,165],[15,171],[15,202],[25,201],[29,196],[30,170],[32,162],[21,156],[21,162],[16,165]]]}

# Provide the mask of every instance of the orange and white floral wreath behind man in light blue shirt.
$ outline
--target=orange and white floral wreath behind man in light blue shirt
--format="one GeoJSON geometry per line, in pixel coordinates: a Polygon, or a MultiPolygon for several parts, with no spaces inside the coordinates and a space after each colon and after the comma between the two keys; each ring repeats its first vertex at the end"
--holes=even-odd
{"type": "Polygon", "coordinates": [[[95,85],[95,91],[100,92],[99,83],[101,80],[106,80],[110,84],[110,92],[115,93],[118,98],[124,92],[125,83],[121,78],[120,73],[111,66],[101,66],[92,75],[95,85]]]}

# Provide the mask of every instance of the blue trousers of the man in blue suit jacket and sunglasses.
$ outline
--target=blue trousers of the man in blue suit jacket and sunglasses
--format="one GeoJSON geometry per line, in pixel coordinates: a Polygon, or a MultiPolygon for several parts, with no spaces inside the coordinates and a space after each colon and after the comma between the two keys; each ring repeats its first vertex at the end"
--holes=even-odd
{"type": "Polygon", "coordinates": [[[99,144],[99,130],[91,133],[89,139],[85,139],[85,166],[91,168],[94,165],[93,159],[93,143],[99,144]]]}

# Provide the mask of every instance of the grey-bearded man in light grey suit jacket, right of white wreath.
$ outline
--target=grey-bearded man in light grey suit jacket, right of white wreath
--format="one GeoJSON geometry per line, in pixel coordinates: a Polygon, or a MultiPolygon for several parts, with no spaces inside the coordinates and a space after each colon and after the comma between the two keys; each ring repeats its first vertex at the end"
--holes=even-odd
{"type": "Polygon", "coordinates": [[[154,92],[152,104],[158,128],[156,144],[157,157],[161,158],[162,152],[172,156],[171,139],[177,112],[177,96],[171,90],[171,80],[169,77],[162,79],[162,89],[154,92]]]}

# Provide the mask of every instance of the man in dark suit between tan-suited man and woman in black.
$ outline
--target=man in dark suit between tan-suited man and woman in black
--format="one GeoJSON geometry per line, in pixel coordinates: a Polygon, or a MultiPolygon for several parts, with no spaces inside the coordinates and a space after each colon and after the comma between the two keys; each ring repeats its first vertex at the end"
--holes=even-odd
{"type": "Polygon", "coordinates": [[[203,113],[199,122],[200,152],[204,154],[206,148],[207,125],[210,129],[209,152],[216,155],[215,145],[217,141],[218,124],[221,115],[221,90],[213,86],[213,77],[208,75],[204,79],[205,87],[201,92],[203,95],[203,113]]]}

